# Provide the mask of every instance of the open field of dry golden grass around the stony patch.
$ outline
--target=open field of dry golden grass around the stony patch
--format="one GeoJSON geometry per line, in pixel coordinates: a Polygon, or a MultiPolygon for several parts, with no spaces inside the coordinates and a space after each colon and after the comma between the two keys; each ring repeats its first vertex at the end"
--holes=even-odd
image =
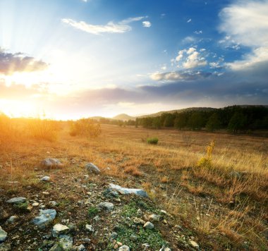
{"type": "MultiPolygon", "coordinates": [[[[143,188],[157,207],[171,214],[169,227],[159,229],[173,250],[195,249],[183,244],[185,236],[201,250],[267,249],[267,138],[117,125],[101,128],[102,134],[90,140],[72,137],[63,122],[52,142],[23,136],[1,142],[0,207],[8,212],[6,199],[49,190],[59,202],[68,198],[59,207],[64,211],[85,194],[70,180],[83,177],[85,164],[92,162],[102,173],[90,177],[90,183],[105,186],[113,179],[118,185],[143,188]],[[158,137],[158,144],[148,145],[148,137],[158,137]],[[212,142],[209,162],[204,164],[200,160],[207,157],[212,142]],[[63,168],[41,169],[39,162],[46,157],[59,159],[63,168]],[[42,175],[62,183],[61,192],[40,184],[37,176],[42,175]]],[[[6,216],[0,216],[2,226],[6,216]]],[[[8,229],[18,235],[17,229],[8,229]]],[[[101,247],[95,243],[96,249],[104,250],[101,247]]]]}

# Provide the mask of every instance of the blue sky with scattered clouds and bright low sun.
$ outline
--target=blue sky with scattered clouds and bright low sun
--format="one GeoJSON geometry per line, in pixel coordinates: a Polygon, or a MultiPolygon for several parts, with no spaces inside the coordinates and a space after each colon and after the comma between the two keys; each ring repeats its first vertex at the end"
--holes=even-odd
{"type": "Polygon", "coordinates": [[[0,111],[268,104],[268,0],[0,0],[0,111]]]}

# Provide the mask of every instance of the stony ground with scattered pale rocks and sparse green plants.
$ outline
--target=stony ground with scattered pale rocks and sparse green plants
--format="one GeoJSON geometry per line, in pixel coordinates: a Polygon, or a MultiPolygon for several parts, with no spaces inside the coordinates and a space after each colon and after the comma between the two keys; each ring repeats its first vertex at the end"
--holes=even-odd
{"type": "Polygon", "coordinates": [[[61,169],[48,173],[36,169],[36,179],[35,185],[18,192],[0,191],[0,226],[7,233],[0,250],[199,249],[193,233],[176,225],[161,205],[111,190],[110,183],[120,185],[114,177],[86,169],[75,176],[61,173],[61,169]],[[53,178],[43,181],[44,176],[53,178]],[[7,202],[14,197],[26,201],[7,202]],[[100,207],[102,202],[110,204],[100,207]],[[55,209],[56,218],[37,226],[32,220],[40,209],[55,209]]]}

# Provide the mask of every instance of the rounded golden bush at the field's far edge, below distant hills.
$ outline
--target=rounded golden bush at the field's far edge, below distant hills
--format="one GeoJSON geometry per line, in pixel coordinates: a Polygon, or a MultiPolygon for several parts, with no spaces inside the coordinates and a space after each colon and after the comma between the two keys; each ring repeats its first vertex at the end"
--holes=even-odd
{"type": "Polygon", "coordinates": [[[69,125],[71,136],[81,135],[95,138],[102,132],[99,123],[95,123],[95,121],[89,118],[81,118],[78,121],[71,121],[69,125]]]}

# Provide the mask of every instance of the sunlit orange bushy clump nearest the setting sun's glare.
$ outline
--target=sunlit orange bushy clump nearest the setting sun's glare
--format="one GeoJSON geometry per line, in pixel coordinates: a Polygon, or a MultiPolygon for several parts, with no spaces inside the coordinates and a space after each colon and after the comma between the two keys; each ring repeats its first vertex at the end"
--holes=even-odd
{"type": "Polygon", "coordinates": [[[57,139],[59,134],[60,125],[59,121],[51,121],[47,119],[30,119],[25,126],[26,133],[30,134],[37,140],[47,140],[53,142],[57,139]]]}

